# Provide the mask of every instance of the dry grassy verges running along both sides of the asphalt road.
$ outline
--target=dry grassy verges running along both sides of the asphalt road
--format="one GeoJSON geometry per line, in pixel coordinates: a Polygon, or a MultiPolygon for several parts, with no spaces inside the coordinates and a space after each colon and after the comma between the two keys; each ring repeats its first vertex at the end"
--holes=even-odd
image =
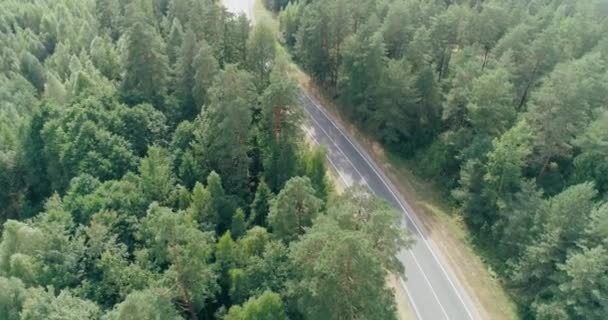
{"type": "MultiPolygon", "coordinates": [[[[273,30],[280,34],[277,19],[264,8],[260,0],[255,1],[254,16],[256,20],[267,21],[273,30]]],[[[489,264],[484,263],[483,252],[474,246],[466,224],[457,210],[447,201],[445,193],[440,192],[429,181],[416,176],[412,171],[415,168],[413,162],[386,152],[380,144],[345,120],[335,102],[329,98],[332,94],[315,85],[310,76],[293,62],[289,52],[280,43],[278,56],[285,58],[289,63],[290,76],[312,93],[338,123],[366,149],[413,207],[418,220],[423,224],[422,227],[429,231],[433,243],[440,249],[441,256],[449,262],[459,282],[477,306],[481,318],[518,319],[517,307],[513,299],[503,288],[500,279],[491,270],[489,264]]],[[[330,180],[334,185],[335,194],[344,190],[344,184],[332,168],[330,168],[330,180]]],[[[387,283],[395,290],[399,317],[402,320],[414,319],[409,299],[396,279],[391,275],[387,283]]]]}

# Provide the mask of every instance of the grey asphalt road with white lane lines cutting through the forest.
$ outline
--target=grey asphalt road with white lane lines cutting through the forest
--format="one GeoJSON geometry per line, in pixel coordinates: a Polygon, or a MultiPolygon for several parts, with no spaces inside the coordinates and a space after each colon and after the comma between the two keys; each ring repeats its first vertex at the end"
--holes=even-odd
{"type": "Polygon", "coordinates": [[[412,209],[365,150],[305,91],[300,100],[310,116],[309,135],[327,147],[327,158],[346,185],[363,184],[403,212],[402,224],[416,240],[399,259],[405,265],[401,285],[418,319],[478,319],[471,300],[450,272],[428,234],[411,214],[412,209]]]}

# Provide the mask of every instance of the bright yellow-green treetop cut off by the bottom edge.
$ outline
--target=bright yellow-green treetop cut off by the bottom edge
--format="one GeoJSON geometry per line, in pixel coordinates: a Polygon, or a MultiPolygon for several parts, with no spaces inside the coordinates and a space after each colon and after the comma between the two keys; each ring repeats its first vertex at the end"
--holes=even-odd
{"type": "Polygon", "coordinates": [[[266,291],[259,297],[249,299],[243,306],[233,306],[224,317],[225,320],[287,320],[281,296],[266,291]]]}

